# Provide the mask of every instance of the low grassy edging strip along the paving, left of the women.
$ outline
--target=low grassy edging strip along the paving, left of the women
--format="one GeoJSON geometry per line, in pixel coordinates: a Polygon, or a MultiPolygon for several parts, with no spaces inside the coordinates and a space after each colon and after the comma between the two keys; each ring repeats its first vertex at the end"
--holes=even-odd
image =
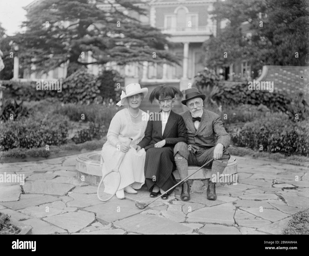
{"type": "MultiPolygon", "coordinates": [[[[50,153],[57,153],[60,151],[81,151],[95,150],[102,148],[103,144],[106,142],[106,137],[100,140],[86,141],[84,143],[75,144],[74,142],[59,145],[59,146],[49,146],[49,150],[45,147],[32,148],[32,149],[9,149],[7,151],[0,152],[0,158],[2,157],[14,157],[14,158],[26,158],[26,157],[49,157],[50,153]]],[[[1,161],[0,161],[1,162],[1,161]]]]}

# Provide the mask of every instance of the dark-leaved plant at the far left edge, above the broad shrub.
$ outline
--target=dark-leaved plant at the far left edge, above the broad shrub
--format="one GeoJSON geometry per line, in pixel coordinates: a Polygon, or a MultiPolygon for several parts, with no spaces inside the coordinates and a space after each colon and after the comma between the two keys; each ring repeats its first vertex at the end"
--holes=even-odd
{"type": "Polygon", "coordinates": [[[23,107],[23,102],[17,103],[16,100],[4,100],[0,108],[0,120],[6,122],[10,120],[13,114],[13,120],[18,120],[22,116],[29,115],[27,107],[23,107]]]}

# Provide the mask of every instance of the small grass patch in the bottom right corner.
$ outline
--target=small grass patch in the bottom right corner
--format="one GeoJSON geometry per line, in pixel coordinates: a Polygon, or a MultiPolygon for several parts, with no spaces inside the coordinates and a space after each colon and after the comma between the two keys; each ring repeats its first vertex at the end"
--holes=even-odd
{"type": "Polygon", "coordinates": [[[282,231],[283,235],[309,235],[309,210],[296,213],[282,231]]]}

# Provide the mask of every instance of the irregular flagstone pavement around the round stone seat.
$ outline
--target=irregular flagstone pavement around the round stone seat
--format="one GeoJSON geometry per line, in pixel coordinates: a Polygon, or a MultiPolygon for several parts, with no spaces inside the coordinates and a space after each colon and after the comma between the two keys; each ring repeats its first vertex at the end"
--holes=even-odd
{"type": "MultiPolygon", "coordinates": [[[[25,183],[0,183],[0,212],[32,227],[32,234],[281,234],[292,216],[309,208],[309,167],[238,157],[238,183],[145,209],[152,198],[143,186],[125,199],[98,200],[96,186],[78,180],[77,155],[38,162],[0,164],[0,174],[24,174],[25,183]],[[306,170],[307,168],[307,170],[306,170]]],[[[205,188],[206,189],[206,188],[205,188]]]]}

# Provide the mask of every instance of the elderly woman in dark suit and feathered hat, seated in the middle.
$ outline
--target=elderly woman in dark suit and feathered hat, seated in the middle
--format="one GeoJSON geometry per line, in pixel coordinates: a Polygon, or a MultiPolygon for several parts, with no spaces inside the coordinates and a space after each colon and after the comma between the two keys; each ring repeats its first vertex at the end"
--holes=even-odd
{"type": "MultiPolygon", "coordinates": [[[[183,97],[180,90],[172,86],[162,85],[150,94],[149,101],[152,103],[157,99],[162,109],[154,113],[158,117],[148,121],[145,136],[136,146],[136,150],[144,148],[146,151],[145,178],[146,185],[151,191],[150,197],[157,197],[158,193],[163,194],[176,184],[172,174],[176,169],[173,150],[178,142],[187,141],[187,130],[181,115],[171,110],[175,101],[175,95],[183,97]]],[[[168,199],[168,194],[162,199],[168,199]]]]}

